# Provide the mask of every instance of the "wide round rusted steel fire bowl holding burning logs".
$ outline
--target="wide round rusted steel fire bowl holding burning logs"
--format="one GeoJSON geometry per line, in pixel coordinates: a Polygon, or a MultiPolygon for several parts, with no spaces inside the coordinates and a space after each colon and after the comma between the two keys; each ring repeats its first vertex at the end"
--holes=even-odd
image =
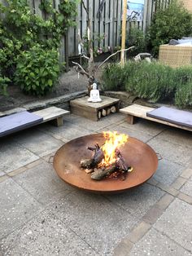
{"type": "Polygon", "coordinates": [[[102,145],[104,141],[103,134],[87,135],[73,139],[59,148],[54,157],[54,168],[59,177],[66,183],[89,192],[112,193],[136,187],[155,173],[158,158],[154,150],[146,143],[129,137],[128,143],[120,148],[126,164],[133,166],[133,171],[126,175],[126,179],[91,179],[90,174],[81,170],[80,161],[91,158],[88,146],[94,146],[95,143],[102,145]]]}

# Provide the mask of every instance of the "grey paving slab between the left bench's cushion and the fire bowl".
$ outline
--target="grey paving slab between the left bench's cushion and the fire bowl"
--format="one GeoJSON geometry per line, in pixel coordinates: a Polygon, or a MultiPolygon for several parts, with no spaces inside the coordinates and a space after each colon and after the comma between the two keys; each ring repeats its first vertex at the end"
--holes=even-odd
{"type": "Polygon", "coordinates": [[[25,130],[15,136],[15,141],[39,157],[55,152],[63,143],[36,128],[25,130]]]}

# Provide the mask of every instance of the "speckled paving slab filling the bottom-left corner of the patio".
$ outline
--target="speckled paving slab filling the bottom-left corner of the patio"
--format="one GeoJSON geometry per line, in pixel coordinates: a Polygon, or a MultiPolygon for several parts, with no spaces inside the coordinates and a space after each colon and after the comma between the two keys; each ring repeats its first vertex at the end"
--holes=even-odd
{"type": "Polygon", "coordinates": [[[3,255],[11,256],[99,255],[48,211],[42,212],[20,230],[3,239],[1,247],[3,255]]]}

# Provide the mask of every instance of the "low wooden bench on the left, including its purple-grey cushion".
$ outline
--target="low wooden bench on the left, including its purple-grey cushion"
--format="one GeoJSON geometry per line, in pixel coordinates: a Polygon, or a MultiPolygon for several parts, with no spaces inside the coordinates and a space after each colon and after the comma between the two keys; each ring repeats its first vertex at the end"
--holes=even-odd
{"type": "Polygon", "coordinates": [[[50,107],[33,113],[23,111],[0,117],[0,137],[39,125],[46,121],[54,121],[56,126],[63,126],[63,116],[67,113],[69,111],[62,108],[50,107]]]}

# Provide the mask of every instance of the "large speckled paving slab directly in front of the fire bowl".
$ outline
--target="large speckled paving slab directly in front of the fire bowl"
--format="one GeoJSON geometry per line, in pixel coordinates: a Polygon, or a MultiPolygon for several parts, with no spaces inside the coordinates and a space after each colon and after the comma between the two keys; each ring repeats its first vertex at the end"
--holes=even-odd
{"type": "Polygon", "coordinates": [[[137,219],[103,196],[77,190],[53,205],[52,213],[102,255],[111,255],[137,219]]]}

